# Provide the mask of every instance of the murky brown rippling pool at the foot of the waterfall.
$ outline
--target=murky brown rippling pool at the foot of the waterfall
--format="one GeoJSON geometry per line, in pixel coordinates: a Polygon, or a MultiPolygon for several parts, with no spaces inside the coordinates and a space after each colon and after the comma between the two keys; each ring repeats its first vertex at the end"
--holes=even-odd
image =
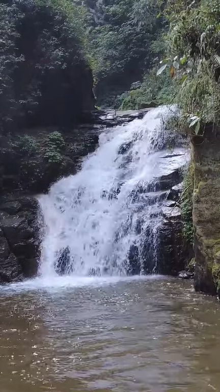
{"type": "Polygon", "coordinates": [[[220,391],[220,305],[175,279],[0,289],[1,392],[220,391]]]}

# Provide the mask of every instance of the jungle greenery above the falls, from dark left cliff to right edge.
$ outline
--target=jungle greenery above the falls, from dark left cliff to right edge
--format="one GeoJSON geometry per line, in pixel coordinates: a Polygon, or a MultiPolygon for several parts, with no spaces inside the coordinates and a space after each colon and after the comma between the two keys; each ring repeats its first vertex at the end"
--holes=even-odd
{"type": "Polygon", "coordinates": [[[92,3],[89,41],[98,99],[104,94],[111,101],[108,84],[112,90],[119,83],[120,88],[130,84],[116,94],[113,106],[137,109],[152,101],[173,102],[183,110],[190,132],[202,132],[206,123],[218,124],[218,0],[92,3]]]}

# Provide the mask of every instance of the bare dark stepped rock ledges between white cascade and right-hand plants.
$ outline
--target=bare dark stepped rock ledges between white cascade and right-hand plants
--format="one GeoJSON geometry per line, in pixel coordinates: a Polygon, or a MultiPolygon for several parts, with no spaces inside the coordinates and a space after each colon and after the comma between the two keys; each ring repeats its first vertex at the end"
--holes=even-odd
{"type": "Polygon", "coordinates": [[[156,182],[160,192],[161,224],[158,228],[158,263],[156,271],[162,275],[177,275],[191,257],[191,246],[183,236],[180,210],[182,180],[187,152],[161,157],[163,173],[156,182]]]}

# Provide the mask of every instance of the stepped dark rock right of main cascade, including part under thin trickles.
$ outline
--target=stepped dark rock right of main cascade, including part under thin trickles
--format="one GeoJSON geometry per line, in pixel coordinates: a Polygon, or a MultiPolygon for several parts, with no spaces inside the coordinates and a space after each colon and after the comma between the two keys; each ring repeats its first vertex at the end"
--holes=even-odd
{"type": "Polygon", "coordinates": [[[139,247],[136,244],[130,247],[129,274],[142,271],[176,276],[193,257],[191,246],[184,240],[179,205],[187,160],[184,149],[174,149],[173,153],[162,151],[154,180],[140,185],[132,194],[134,201],[142,199],[146,203],[147,219],[145,216],[145,224],[139,224],[139,247]]]}

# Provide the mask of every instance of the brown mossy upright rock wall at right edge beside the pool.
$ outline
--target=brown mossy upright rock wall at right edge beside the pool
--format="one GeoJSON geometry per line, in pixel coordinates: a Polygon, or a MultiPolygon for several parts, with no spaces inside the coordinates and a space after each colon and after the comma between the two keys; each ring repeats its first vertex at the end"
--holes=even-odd
{"type": "Polygon", "coordinates": [[[220,289],[219,146],[212,128],[193,139],[195,288],[213,295],[220,289]]]}

